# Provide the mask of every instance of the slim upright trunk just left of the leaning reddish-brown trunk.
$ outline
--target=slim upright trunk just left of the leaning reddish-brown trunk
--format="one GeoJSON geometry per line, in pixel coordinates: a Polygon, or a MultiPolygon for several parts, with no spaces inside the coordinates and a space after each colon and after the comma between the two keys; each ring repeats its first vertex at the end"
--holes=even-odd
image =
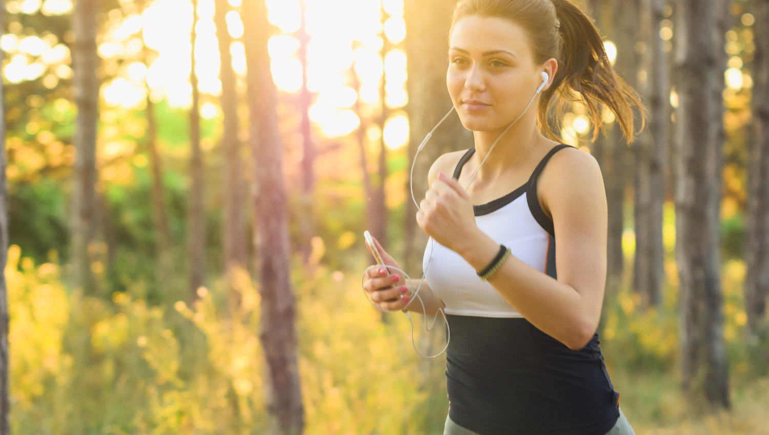
{"type": "Polygon", "coordinates": [[[243,165],[241,164],[241,142],[238,139],[238,92],[236,90],[235,71],[232,68],[230,46],[232,37],[227,28],[227,12],[230,10],[227,0],[216,0],[215,24],[216,38],[219,44],[221,69],[221,111],[224,115],[224,129],[221,134],[223,153],[222,170],[224,179],[224,239],[225,273],[231,279],[235,268],[245,267],[246,231],[243,202],[243,165]]]}

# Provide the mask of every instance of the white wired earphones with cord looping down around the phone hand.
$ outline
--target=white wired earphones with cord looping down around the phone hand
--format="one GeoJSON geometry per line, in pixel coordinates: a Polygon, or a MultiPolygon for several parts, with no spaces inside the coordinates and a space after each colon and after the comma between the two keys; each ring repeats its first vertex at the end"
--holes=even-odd
{"type": "MultiPolygon", "coordinates": [[[[494,147],[500,141],[502,136],[504,136],[504,134],[507,133],[508,130],[510,130],[510,128],[513,125],[515,125],[515,123],[518,122],[519,119],[521,119],[523,117],[523,115],[531,107],[531,104],[534,103],[534,99],[537,98],[537,95],[539,95],[539,93],[542,91],[542,89],[544,89],[544,87],[546,85],[548,85],[548,81],[550,80],[550,75],[548,75],[547,72],[542,71],[541,72],[541,76],[542,76],[542,83],[537,88],[537,91],[534,91],[534,96],[531,97],[531,100],[529,101],[528,105],[526,105],[526,108],[524,108],[524,111],[521,112],[521,115],[518,115],[518,118],[515,118],[515,121],[512,121],[510,123],[510,125],[508,125],[508,127],[505,128],[504,131],[502,131],[502,133],[499,135],[497,140],[495,140],[494,143],[491,144],[491,148],[488,149],[488,152],[486,153],[486,156],[484,157],[484,159],[481,161],[481,164],[478,164],[478,168],[475,169],[475,172],[474,172],[472,178],[470,179],[470,182],[468,182],[468,185],[464,187],[465,191],[468,190],[468,188],[470,187],[470,184],[472,184],[473,180],[475,179],[475,176],[478,175],[478,171],[481,170],[481,166],[483,166],[483,164],[485,163],[485,161],[488,158],[488,156],[491,155],[491,151],[494,150],[494,147]]],[[[419,144],[419,147],[417,148],[416,153],[414,153],[414,160],[411,162],[411,172],[409,174],[409,188],[411,190],[411,201],[414,201],[414,205],[417,207],[417,210],[421,210],[421,208],[419,208],[419,204],[417,204],[416,198],[414,198],[414,166],[416,165],[416,162],[417,162],[417,156],[419,155],[419,151],[422,151],[422,148],[424,148],[424,145],[426,145],[428,143],[428,141],[430,141],[430,138],[432,138],[433,132],[438,127],[440,127],[441,124],[443,124],[443,121],[445,121],[446,118],[448,118],[448,115],[451,115],[451,112],[454,111],[454,109],[455,108],[452,105],[451,109],[449,109],[448,113],[446,113],[446,115],[444,115],[444,117],[441,118],[441,121],[438,121],[438,124],[436,124],[432,128],[432,130],[424,137],[424,139],[421,141],[421,144],[419,144]]],[[[424,275],[427,274],[427,271],[430,268],[430,264],[432,262],[432,254],[433,254],[433,251],[435,250],[435,243],[436,243],[435,239],[430,237],[430,239],[428,240],[428,243],[429,242],[432,242],[431,249],[430,249],[430,258],[428,258],[428,264],[424,266],[424,271],[422,271],[422,278],[419,280],[419,286],[417,287],[417,290],[414,291],[413,294],[406,294],[406,295],[404,295],[404,296],[411,296],[411,301],[408,301],[408,303],[401,309],[406,314],[406,317],[408,317],[409,324],[411,324],[411,346],[414,347],[414,351],[420,357],[424,357],[424,358],[434,358],[434,357],[440,356],[441,354],[443,354],[448,349],[448,343],[449,343],[449,340],[451,340],[451,330],[448,327],[448,318],[446,317],[446,313],[443,310],[443,308],[438,308],[438,311],[433,316],[431,324],[428,327],[428,324],[427,324],[427,321],[428,321],[427,320],[427,316],[428,316],[427,309],[424,307],[424,301],[422,301],[422,298],[419,296],[419,290],[422,287],[422,283],[425,281],[424,275]],[[422,355],[422,354],[419,353],[419,350],[417,350],[416,344],[414,344],[414,324],[411,322],[411,316],[408,314],[407,307],[409,305],[411,305],[411,303],[415,299],[419,299],[419,303],[422,306],[422,313],[424,313],[424,327],[425,327],[426,330],[428,330],[428,331],[432,330],[432,328],[435,325],[435,320],[438,320],[438,313],[441,313],[443,315],[443,320],[444,320],[444,322],[446,322],[446,346],[443,348],[443,350],[438,352],[438,354],[422,355]]],[[[363,275],[361,276],[361,287],[363,287],[363,281],[365,281],[366,274],[368,274],[369,269],[371,269],[372,267],[387,267],[387,268],[392,269],[394,271],[401,272],[401,274],[403,274],[404,277],[406,277],[406,279],[408,280],[408,283],[410,284],[408,287],[409,288],[413,288],[414,287],[413,281],[411,281],[411,277],[409,277],[408,274],[405,271],[401,270],[398,267],[388,266],[387,264],[374,264],[374,265],[371,265],[371,266],[367,267],[366,270],[363,271],[363,275]]],[[[387,312],[394,312],[395,311],[395,310],[382,310],[380,307],[378,307],[376,304],[374,304],[374,302],[371,301],[371,298],[368,297],[368,293],[365,291],[365,289],[364,289],[363,293],[365,294],[365,296],[368,299],[369,303],[371,303],[371,305],[373,305],[377,310],[380,310],[380,311],[385,312],[385,313],[387,313],[387,312]]]]}

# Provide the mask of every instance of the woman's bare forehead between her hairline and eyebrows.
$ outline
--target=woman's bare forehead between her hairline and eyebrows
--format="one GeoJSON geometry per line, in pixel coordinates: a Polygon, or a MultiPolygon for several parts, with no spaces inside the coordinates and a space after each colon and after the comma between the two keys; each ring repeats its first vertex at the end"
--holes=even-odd
{"type": "Polygon", "coordinates": [[[471,55],[499,50],[511,51],[518,57],[531,55],[524,28],[506,18],[460,18],[454,24],[449,42],[450,49],[458,48],[471,55]]]}

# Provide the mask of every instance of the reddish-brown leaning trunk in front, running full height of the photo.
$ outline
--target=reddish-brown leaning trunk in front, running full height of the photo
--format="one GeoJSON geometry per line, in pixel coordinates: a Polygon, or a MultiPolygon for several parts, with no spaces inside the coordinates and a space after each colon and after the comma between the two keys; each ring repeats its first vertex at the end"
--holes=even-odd
{"type": "Polygon", "coordinates": [[[255,227],[261,233],[258,274],[261,293],[261,344],[268,366],[271,433],[298,435],[304,408],[297,362],[295,297],[289,274],[288,204],[278,131],[277,95],[270,72],[267,42],[271,26],[264,0],[243,3],[248,105],[251,108],[251,155],[254,160],[255,227]]]}

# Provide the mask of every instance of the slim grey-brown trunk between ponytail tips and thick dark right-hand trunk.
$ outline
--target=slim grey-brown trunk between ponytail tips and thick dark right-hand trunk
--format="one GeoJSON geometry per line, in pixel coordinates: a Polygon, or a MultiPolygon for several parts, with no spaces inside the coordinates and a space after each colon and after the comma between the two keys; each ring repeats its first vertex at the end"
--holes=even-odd
{"type": "Polygon", "coordinates": [[[650,134],[636,145],[635,178],[635,291],[653,306],[661,302],[664,282],[664,245],[662,243],[662,208],[665,201],[664,153],[667,150],[667,125],[670,121],[670,89],[667,78],[667,54],[660,37],[664,18],[664,0],[642,2],[641,28],[645,33],[647,85],[651,120],[650,134]]]}

